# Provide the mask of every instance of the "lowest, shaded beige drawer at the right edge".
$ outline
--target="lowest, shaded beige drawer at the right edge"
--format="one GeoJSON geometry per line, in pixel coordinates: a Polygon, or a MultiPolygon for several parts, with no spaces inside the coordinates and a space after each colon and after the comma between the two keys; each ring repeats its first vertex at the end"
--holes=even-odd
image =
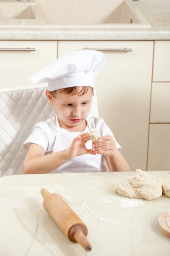
{"type": "Polygon", "coordinates": [[[147,170],[170,170],[170,124],[150,124],[147,170]]]}

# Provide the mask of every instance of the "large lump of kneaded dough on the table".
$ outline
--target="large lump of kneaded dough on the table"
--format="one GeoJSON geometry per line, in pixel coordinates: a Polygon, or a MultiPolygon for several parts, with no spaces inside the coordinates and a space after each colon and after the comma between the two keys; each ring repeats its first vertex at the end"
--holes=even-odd
{"type": "Polygon", "coordinates": [[[129,198],[153,200],[161,197],[162,184],[153,175],[137,169],[134,177],[115,186],[114,192],[129,198]]]}

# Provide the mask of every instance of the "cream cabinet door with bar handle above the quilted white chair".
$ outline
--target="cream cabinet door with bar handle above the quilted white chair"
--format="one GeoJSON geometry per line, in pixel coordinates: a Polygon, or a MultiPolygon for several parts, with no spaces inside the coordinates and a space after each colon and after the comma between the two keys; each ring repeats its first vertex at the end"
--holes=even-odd
{"type": "Polygon", "coordinates": [[[56,41],[0,41],[0,88],[32,84],[31,76],[56,58],[56,41]]]}

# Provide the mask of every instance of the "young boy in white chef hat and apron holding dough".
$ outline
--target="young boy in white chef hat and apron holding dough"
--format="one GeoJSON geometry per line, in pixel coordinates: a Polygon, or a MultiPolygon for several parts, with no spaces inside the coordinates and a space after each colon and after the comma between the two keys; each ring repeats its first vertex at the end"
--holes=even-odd
{"type": "Polygon", "coordinates": [[[80,50],[59,58],[30,79],[48,81],[46,96],[56,116],[34,126],[23,144],[28,151],[25,174],[130,171],[111,130],[102,118],[90,117],[94,78],[105,63],[102,52],[80,50]],[[101,134],[90,140],[91,128],[101,134]]]}

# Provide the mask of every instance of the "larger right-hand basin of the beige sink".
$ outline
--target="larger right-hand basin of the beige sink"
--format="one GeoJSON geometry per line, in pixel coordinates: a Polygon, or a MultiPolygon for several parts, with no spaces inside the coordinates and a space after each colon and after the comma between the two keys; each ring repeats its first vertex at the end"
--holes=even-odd
{"type": "Polygon", "coordinates": [[[62,27],[150,27],[132,0],[36,0],[45,22],[62,27]]]}

